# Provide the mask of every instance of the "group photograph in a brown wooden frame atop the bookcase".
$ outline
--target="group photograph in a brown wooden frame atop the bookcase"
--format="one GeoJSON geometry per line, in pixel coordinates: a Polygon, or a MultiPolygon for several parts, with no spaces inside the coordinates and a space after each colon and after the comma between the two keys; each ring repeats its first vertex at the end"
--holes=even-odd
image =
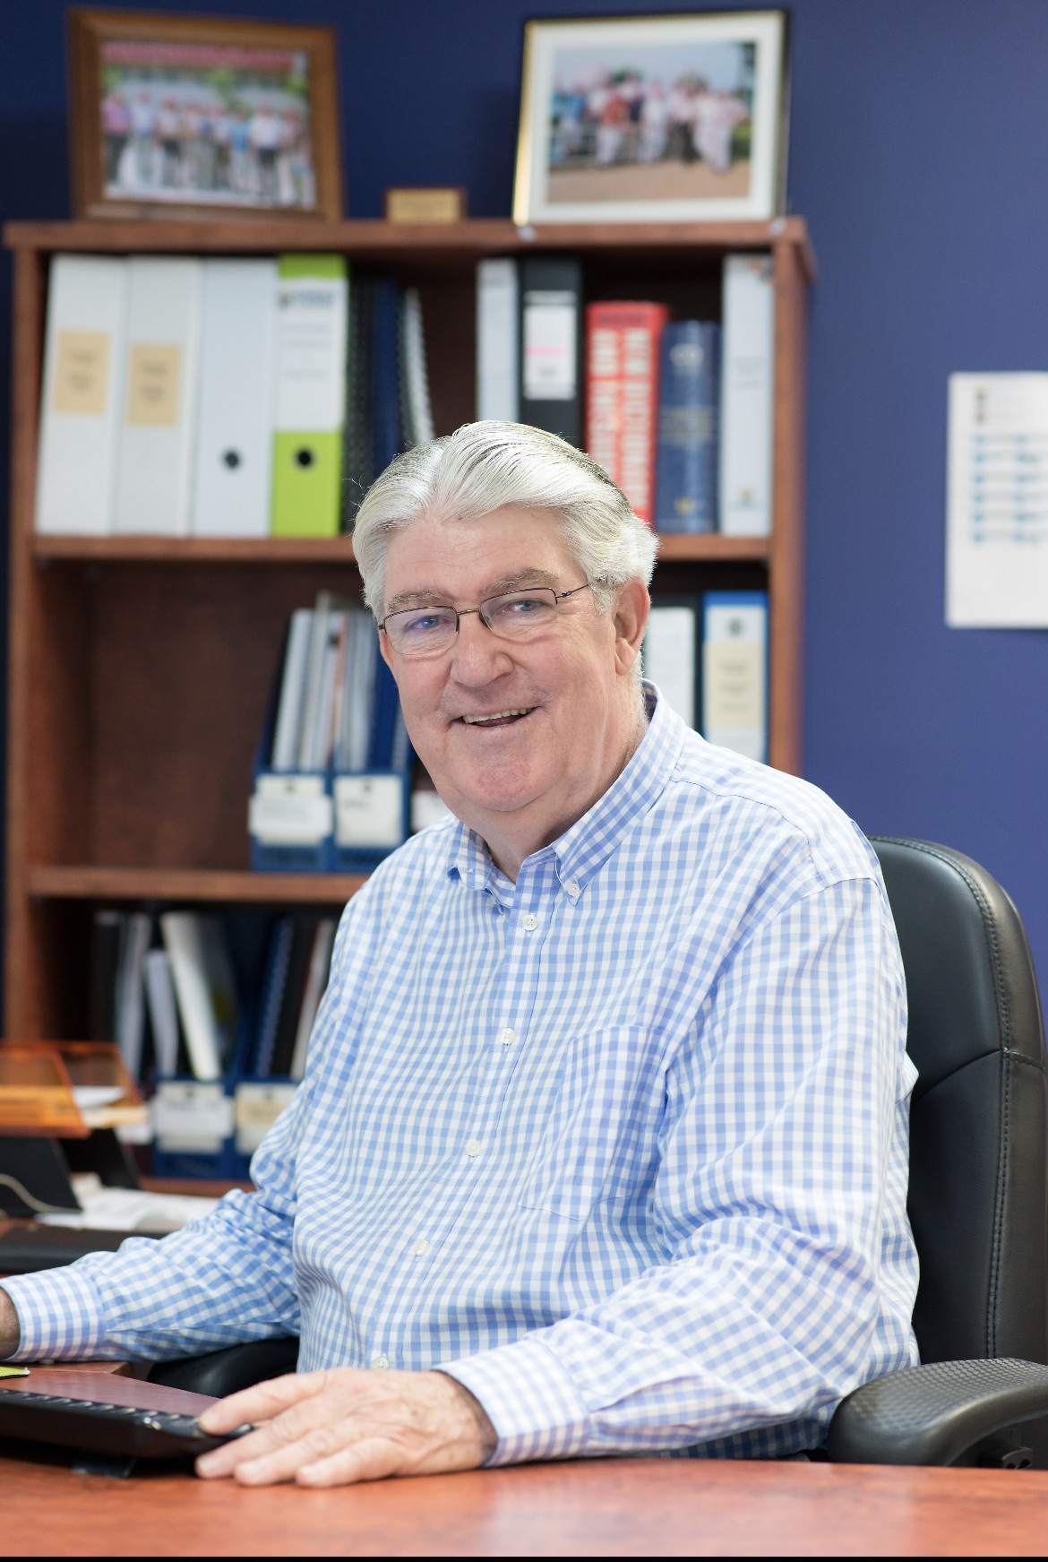
{"type": "Polygon", "coordinates": [[[334,33],[69,12],[77,217],[342,216],[334,33]]]}

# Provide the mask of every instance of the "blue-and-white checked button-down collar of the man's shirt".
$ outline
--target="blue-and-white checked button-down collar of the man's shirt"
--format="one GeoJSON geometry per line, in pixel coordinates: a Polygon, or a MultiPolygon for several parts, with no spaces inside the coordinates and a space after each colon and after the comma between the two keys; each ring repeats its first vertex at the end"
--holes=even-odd
{"type": "MultiPolygon", "coordinates": [[[[612,781],[589,812],[545,847],[556,858],[561,884],[576,898],[587,881],[612,854],[626,829],[647,814],[664,790],[684,744],[684,722],[651,683],[643,684],[648,729],[620,776],[612,781]]],[[[542,856],[534,853],[528,861],[542,856]]],[[[448,842],[448,876],[458,873],[469,889],[487,889],[498,875],[487,845],[462,820],[448,842]]],[[[494,886],[492,886],[494,887],[494,886]]]]}

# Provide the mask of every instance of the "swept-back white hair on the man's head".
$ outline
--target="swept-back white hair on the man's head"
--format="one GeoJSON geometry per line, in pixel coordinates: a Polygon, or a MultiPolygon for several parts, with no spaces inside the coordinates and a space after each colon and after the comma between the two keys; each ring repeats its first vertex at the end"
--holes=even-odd
{"type": "Polygon", "coordinates": [[[353,551],[364,601],[384,611],[386,539],[426,515],[479,520],[519,505],[548,509],[594,587],[598,612],[628,580],[648,584],[656,539],[595,461],[526,423],[464,423],[397,456],[372,483],[356,515],[353,551]]]}

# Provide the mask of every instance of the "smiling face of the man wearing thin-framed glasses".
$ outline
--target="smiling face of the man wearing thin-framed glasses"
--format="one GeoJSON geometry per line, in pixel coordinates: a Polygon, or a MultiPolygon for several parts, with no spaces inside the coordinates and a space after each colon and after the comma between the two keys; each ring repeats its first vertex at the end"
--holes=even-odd
{"type": "MultiPolygon", "coordinates": [[[[476,608],[500,592],[565,592],[584,580],[554,515],[508,505],[481,520],[425,519],[394,531],[384,612],[476,608]]],[[[631,581],[623,594],[626,622],[614,608],[598,614],[583,590],[559,603],[556,623],[531,640],[500,639],[473,612],[447,653],[423,661],[398,656],[383,636],[415,751],[497,861],[494,837],[503,829],[536,847],[554,840],[625,762],[637,728],[634,620],[642,609],[642,631],[647,592],[631,581]]]]}

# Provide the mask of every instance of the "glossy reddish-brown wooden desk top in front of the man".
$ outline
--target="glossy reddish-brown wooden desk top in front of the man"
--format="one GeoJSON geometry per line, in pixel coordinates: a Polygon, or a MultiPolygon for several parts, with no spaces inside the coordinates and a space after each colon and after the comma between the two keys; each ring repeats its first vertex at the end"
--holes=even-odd
{"type": "Polygon", "coordinates": [[[0,1459],[3,1556],[1042,1556],[1048,1473],[600,1459],[244,1490],[0,1459]]]}

